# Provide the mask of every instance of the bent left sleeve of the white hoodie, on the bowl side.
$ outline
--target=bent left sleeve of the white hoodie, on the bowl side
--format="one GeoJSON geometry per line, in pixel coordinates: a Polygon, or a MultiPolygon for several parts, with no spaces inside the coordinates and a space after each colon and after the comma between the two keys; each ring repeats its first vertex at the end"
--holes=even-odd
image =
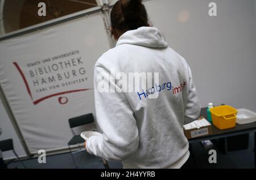
{"type": "Polygon", "coordinates": [[[103,135],[89,138],[86,149],[90,154],[106,160],[122,161],[137,151],[139,133],[133,110],[125,95],[115,85],[115,80],[109,77],[110,72],[105,68],[94,67],[96,116],[103,135]],[[102,84],[104,87],[110,84],[115,92],[102,92],[102,84]]]}

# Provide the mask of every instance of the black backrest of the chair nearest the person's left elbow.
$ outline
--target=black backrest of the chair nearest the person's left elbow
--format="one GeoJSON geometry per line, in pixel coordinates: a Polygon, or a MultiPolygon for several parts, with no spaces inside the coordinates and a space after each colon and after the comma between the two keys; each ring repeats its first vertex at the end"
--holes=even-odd
{"type": "Polygon", "coordinates": [[[85,115],[81,115],[79,117],[75,117],[75,118],[70,118],[68,119],[69,122],[69,126],[71,128],[73,127],[77,127],[77,126],[82,126],[82,125],[86,125],[89,123],[93,123],[94,122],[94,118],[93,118],[93,114],[85,114],[85,115]]]}

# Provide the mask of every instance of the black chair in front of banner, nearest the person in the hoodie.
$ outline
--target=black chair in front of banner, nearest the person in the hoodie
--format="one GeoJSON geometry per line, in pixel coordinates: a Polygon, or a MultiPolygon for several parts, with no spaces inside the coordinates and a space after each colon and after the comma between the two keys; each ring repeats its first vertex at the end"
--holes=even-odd
{"type": "MultiPolygon", "coordinates": [[[[84,143],[85,140],[82,139],[80,135],[76,135],[73,128],[78,127],[78,126],[82,126],[82,125],[88,125],[90,123],[94,123],[94,118],[93,118],[93,114],[90,113],[90,114],[85,114],[85,115],[81,115],[79,117],[68,119],[68,122],[69,122],[69,127],[71,128],[71,131],[72,131],[72,134],[73,134],[73,138],[71,140],[69,140],[69,142],[68,142],[68,148],[69,148],[69,152],[71,153],[72,160],[75,164],[75,167],[78,168],[78,165],[79,165],[79,163],[82,159],[82,155],[84,155],[84,153],[82,153],[83,145],[82,145],[82,148],[81,148],[80,144],[84,143]],[[80,151],[72,152],[71,151],[71,145],[77,145],[79,147],[80,151]],[[77,152],[81,152],[81,157],[79,158],[79,161],[76,163],[75,158],[73,156],[73,153],[77,153],[77,152]]],[[[94,131],[96,131],[95,126],[94,126],[94,131]]],[[[102,160],[102,162],[103,162],[105,168],[109,169],[108,162],[106,162],[106,160],[104,160],[104,159],[102,160]]]]}

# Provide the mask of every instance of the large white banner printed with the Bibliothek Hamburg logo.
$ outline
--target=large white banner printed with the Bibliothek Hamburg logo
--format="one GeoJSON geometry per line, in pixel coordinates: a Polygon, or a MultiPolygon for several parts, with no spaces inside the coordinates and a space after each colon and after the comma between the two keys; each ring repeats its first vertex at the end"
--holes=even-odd
{"type": "Polygon", "coordinates": [[[94,113],[93,67],[109,49],[101,14],[0,42],[0,82],[31,153],[67,147],[68,119],[94,113]]]}

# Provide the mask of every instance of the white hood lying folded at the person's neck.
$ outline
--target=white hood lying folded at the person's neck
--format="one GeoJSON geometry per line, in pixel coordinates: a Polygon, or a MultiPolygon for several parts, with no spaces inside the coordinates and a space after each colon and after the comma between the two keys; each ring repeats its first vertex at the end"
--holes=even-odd
{"type": "Polygon", "coordinates": [[[141,27],[127,31],[119,37],[117,45],[132,44],[149,48],[167,48],[168,44],[160,31],[155,27],[141,27]]]}

